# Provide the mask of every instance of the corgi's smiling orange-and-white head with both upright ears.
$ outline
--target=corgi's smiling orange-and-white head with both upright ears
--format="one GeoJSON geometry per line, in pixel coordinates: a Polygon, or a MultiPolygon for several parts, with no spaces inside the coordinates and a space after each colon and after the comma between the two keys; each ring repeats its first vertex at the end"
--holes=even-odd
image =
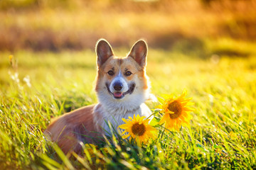
{"type": "Polygon", "coordinates": [[[147,45],[137,41],[127,57],[115,57],[106,40],[96,45],[96,91],[101,103],[144,102],[148,88],[145,72],[147,45]]]}

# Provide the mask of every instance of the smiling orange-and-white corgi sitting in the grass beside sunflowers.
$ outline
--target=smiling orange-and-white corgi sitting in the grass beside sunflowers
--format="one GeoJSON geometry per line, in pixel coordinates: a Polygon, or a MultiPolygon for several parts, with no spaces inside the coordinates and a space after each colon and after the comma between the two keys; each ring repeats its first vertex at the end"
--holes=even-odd
{"type": "Polygon", "coordinates": [[[117,130],[122,118],[151,111],[144,101],[150,99],[149,79],[146,76],[148,47],[137,41],[127,57],[115,57],[109,42],[96,44],[97,77],[95,91],[99,103],[78,108],[52,120],[44,134],[58,144],[65,154],[82,152],[82,143],[97,143],[111,135],[110,125],[117,130]]]}

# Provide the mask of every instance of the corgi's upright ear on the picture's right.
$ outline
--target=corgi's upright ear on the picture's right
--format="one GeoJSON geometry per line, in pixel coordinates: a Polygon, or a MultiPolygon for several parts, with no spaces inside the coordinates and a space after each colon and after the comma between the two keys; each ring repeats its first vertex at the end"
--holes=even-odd
{"type": "Polygon", "coordinates": [[[132,47],[132,50],[129,52],[130,57],[133,57],[134,60],[141,66],[146,66],[146,55],[147,55],[147,45],[144,40],[138,40],[132,47]]]}

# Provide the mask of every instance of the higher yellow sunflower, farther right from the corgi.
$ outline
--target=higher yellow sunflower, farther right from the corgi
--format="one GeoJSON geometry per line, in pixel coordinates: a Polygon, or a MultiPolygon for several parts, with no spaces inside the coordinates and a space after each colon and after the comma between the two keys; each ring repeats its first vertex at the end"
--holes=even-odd
{"type": "Polygon", "coordinates": [[[164,102],[156,106],[156,108],[160,109],[160,113],[164,113],[159,121],[159,124],[165,123],[164,128],[178,130],[181,125],[188,125],[189,120],[192,118],[189,112],[194,110],[188,107],[193,105],[193,103],[189,102],[192,98],[185,98],[185,96],[186,90],[177,98],[171,95],[164,95],[164,102]]]}

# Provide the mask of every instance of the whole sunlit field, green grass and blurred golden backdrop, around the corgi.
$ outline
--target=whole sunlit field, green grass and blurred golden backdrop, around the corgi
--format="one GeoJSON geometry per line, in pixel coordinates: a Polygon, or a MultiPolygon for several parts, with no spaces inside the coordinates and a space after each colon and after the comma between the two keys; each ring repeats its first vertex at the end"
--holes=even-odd
{"type": "MultiPolygon", "coordinates": [[[[0,1],[1,169],[256,169],[255,1],[0,1]],[[119,137],[68,159],[50,119],[97,103],[95,43],[144,38],[151,92],[181,95],[188,128],[138,147],[119,137]]],[[[159,103],[147,105],[154,110],[159,103]]]]}

